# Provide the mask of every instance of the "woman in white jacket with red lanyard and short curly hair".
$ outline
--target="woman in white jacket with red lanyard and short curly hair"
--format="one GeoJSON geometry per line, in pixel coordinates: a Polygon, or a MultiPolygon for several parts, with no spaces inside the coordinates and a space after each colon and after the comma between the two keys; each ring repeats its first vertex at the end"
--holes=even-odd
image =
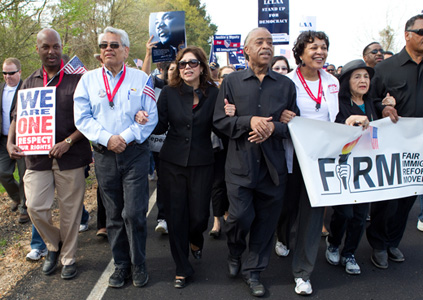
{"type": "MultiPolygon", "coordinates": [[[[295,42],[293,52],[298,66],[287,76],[295,83],[297,106],[302,118],[334,122],[338,114],[339,82],[322,69],[328,48],[329,39],[324,32],[303,32],[295,42]]],[[[286,110],[281,121],[288,123],[294,117],[294,112],[286,110]]],[[[310,134],[313,134],[312,129],[310,134]]],[[[298,182],[297,190],[286,195],[284,201],[286,216],[296,216],[298,212],[299,218],[292,262],[295,292],[309,295],[312,293],[309,278],[317,257],[325,208],[311,207],[290,140],[285,142],[285,153],[288,170],[298,182]]]]}

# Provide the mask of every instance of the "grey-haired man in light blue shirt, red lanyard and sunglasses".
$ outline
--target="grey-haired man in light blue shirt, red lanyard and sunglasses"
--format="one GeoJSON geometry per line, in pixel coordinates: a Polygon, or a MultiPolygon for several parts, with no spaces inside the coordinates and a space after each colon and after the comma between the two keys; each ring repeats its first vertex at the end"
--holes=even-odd
{"type": "Polygon", "coordinates": [[[122,287],[132,273],[133,284],[141,287],[148,281],[147,138],[157,124],[157,108],[154,98],[144,92],[148,76],[125,66],[127,33],[107,27],[98,41],[104,67],[81,78],[74,94],[75,125],[94,142],[95,171],[116,267],[109,286],[122,287]],[[135,121],[140,110],[148,120],[144,125],[135,121]]]}

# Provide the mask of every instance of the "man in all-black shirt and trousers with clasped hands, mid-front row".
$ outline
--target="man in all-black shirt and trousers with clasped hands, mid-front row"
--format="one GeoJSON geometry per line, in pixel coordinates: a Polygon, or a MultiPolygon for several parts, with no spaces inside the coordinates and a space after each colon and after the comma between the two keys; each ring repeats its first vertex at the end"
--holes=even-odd
{"type": "Polygon", "coordinates": [[[279,122],[285,109],[298,113],[295,86],[287,77],[273,72],[272,35],[265,28],[252,30],[244,55],[249,69],[233,72],[222,82],[214,112],[214,126],[229,137],[225,180],[229,198],[226,220],[230,277],[241,269],[253,296],[263,296],[260,272],[270,258],[274,230],[282,208],[287,167],[282,140],[289,136],[279,122]],[[236,107],[226,115],[224,100],[236,107]]]}

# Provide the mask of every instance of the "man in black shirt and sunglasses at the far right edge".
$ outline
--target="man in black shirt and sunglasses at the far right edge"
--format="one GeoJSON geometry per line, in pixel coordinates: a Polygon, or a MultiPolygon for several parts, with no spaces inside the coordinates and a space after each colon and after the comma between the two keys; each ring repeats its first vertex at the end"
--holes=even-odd
{"type": "MultiPolygon", "coordinates": [[[[399,117],[423,117],[423,14],[407,21],[404,37],[401,52],[376,65],[369,97],[382,117],[390,117],[394,123],[399,117]],[[395,107],[384,105],[388,93],[395,98],[395,107]]],[[[415,200],[412,196],[372,203],[367,239],[376,267],[388,268],[388,258],[405,260],[398,246],[415,200]]]]}

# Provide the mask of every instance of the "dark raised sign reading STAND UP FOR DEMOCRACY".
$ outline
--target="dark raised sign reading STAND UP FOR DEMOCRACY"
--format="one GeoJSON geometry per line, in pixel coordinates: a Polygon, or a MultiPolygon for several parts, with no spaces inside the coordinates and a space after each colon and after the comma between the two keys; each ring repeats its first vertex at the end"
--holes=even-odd
{"type": "Polygon", "coordinates": [[[259,0],[258,26],[270,31],[274,45],[289,44],[289,0],[259,0]]]}

